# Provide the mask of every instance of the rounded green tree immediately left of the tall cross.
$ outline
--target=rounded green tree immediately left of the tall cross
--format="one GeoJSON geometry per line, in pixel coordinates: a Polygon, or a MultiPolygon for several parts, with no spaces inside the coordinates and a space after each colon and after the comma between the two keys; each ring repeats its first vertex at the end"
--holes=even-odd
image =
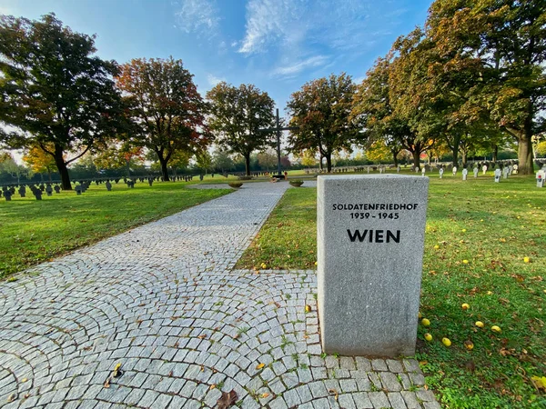
{"type": "Polygon", "coordinates": [[[273,125],[273,99],[254,85],[235,87],[222,82],[207,92],[207,100],[211,105],[209,125],[217,143],[231,154],[243,155],[250,175],[250,154],[272,143],[272,135],[259,129],[273,125]]]}

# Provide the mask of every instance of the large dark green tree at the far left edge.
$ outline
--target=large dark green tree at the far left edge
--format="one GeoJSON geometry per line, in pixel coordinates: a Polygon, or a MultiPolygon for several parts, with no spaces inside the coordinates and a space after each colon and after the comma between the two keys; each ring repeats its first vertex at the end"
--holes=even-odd
{"type": "Polygon", "coordinates": [[[119,125],[116,64],[92,56],[94,44],[95,36],[74,33],[54,14],[0,17],[0,123],[16,129],[2,138],[54,157],[66,190],[67,165],[119,125]]]}

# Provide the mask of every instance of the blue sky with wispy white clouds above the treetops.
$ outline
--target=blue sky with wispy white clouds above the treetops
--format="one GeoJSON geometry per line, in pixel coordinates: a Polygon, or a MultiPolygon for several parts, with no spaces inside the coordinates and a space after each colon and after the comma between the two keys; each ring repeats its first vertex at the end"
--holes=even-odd
{"type": "Polygon", "coordinates": [[[218,81],[254,84],[284,111],[306,82],[360,81],[392,42],[423,25],[430,0],[0,0],[0,14],[96,34],[97,55],[181,59],[202,95],[218,81]]]}

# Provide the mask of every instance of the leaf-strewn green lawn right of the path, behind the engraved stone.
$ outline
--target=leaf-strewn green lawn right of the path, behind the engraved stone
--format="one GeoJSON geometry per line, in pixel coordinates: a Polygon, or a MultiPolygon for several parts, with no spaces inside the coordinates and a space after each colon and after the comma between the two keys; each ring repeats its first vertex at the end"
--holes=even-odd
{"type": "MultiPolygon", "coordinates": [[[[417,358],[444,407],[546,407],[546,191],[535,186],[430,178],[417,358]]],[[[288,189],[238,267],[313,268],[316,192],[288,189]]]]}

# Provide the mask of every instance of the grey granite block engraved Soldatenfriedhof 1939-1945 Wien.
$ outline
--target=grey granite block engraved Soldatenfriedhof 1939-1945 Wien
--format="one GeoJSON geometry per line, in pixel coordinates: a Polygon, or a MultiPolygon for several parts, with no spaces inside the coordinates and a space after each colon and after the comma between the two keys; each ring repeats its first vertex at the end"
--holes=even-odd
{"type": "Polygon", "coordinates": [[[428,177],[319,176],[325,353],[414,354],[428,189],[428,177]]]}

